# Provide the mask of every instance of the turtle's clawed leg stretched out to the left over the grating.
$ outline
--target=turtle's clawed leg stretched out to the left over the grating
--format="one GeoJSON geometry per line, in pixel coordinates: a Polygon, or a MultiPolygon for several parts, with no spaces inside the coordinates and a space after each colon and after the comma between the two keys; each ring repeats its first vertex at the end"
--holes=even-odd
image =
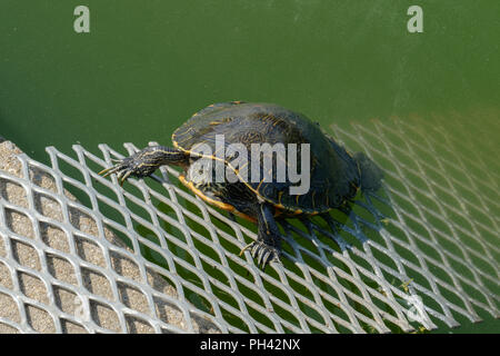
{"type": "Polygon", "coordinates": [[[129,176],[143,178],[150,176],[157,168],[163,165],[187,165],[189,156],[184,152],[164,146],[149,146],[127,158],[118,160],[113,167],[99,172],[103,177],[117,174],[120,185],[123,185],[129,176]]]}

